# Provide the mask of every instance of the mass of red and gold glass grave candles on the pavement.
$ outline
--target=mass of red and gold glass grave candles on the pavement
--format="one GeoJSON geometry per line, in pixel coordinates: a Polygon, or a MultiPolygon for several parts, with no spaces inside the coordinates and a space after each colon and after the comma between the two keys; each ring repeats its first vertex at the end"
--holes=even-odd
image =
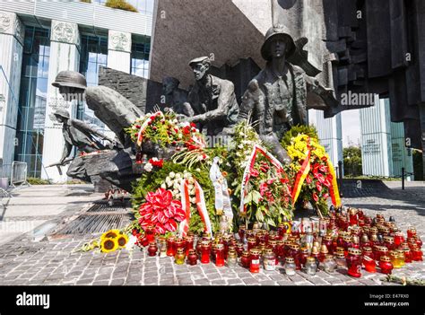
{"type": "Polygon", "coordinates": [[[261,266],[272,271],[282,264],[289,276],[301,269],[315,275],[321,269],[360,277],[362,268],[373,273],[378,267],[391,274],[393,268],[422,260],[422,242],[414,228],[404,238],[392,218],[386,222],[381,214],[371,218],[353,208],[331,209],[325,219],[281,223],[272,232],[261,229],[259,223],[251,230],[241,226],[238,240],[228,233],[217,233],[213,239],[204,233],[196,242],[191,233],[156,240],[152,230],[148,228],[140,241],[148,247],[148,255],[157,256],[160,251],[160,258],[174,257],[179,265],[196,265],[199,259],[202,264],[240,265],[258,273],[261,266]]]}

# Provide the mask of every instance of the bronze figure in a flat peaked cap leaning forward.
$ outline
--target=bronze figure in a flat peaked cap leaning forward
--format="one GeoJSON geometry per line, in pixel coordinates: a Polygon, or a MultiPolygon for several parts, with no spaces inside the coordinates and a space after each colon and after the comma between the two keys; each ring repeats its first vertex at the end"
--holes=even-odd
{"type": "Polygon", "coordinates": [[[189,92],[188,104],[194,116],[186,121],[198,125],[208,136],[224,135],[234,127],[239,115],[233,83],[209,74],[211,61],[198,57],[189,62],[195,76],[195,84],[189,92]]]}

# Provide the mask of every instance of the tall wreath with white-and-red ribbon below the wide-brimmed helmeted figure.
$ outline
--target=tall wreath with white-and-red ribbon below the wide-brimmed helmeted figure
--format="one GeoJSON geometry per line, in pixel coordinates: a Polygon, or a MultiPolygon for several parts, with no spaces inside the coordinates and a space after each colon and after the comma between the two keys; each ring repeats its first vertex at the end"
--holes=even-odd
{"type": "MultiPolygon", "coordinates": [[[[254,221],[277,226],[292,217],[290,180],[282,165],[265,149],[256,130],[240,123],[230,156],[230,184],[239,198],[240,216],[248,223],[254,221]]],[[[227,165],[229,167],[229,165],[227,165]]]]}

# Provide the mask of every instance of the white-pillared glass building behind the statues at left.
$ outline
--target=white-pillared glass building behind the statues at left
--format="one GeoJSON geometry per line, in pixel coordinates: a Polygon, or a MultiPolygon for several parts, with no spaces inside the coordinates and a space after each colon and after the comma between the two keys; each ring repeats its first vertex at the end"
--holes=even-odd
{"type": "MultiPolygon", "coordinates": [[[[104,0],[0,1],[0,164],[9,177],[13,161],[28,176],[65,181],[56,168],[63,148],[61,125],[52,116],[64,104],[51,83],[63,70],[97,85],[100,66],[149,76],[154,0],[129,0],[139,13],[112,9],[104,0]]],[[[83,101],[71,117],[105,130],[83,101]]]]}

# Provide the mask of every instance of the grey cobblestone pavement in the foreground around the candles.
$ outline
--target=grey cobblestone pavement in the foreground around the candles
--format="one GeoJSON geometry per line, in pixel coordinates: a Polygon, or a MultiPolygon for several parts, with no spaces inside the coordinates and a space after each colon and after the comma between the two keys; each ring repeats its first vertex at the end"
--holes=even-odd
{"type": "MultiPolygon", "coordinates": [[[[359,206],[369,215],[395,217],[405,232],[416,226],[425,240],[425,194],[393,190],[391,196],[344,198],[347,206],[359,206]]],[[[320,271],[316,276],[297,272],[295,276],[276,271],[251,274],[242,267],[215,267],[213,264],[178,266],[172,258],[147,257],[145,250],[134,249],[109,254],[74,252],[92,235],[55,241],[31,242],[22,238],[0,248],[0,284],[47,285],[396,285],[381,281],[384,275],[363,271],[360,278],[320,271]]],[[[414,262],[393,272],[396,276],[425,279],[425,264],[414,262]]]]}

